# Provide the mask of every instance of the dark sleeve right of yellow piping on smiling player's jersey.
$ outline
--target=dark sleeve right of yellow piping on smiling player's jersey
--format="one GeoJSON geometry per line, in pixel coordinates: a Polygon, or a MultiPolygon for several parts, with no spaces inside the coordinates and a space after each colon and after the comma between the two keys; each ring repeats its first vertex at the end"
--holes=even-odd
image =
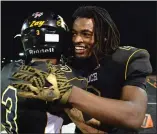
{"type": "Polygon", "coordinates": [[[124,85],[146,88],[146,77],[152,72],[149,58],[149,53],[144,49],[132,53],[126,63],[124,85]]]}

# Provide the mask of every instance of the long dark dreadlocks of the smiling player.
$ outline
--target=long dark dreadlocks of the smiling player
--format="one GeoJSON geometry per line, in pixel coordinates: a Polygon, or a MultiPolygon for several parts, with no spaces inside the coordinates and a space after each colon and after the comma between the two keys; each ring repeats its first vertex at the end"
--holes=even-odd
{"type": "Polygon", "coordinates": [[[73,22],[78,18],[92,18],[94,20],[95,54],[98,58],[110,55],[119,46],[120,34],[109,13],[96,6],[81,6],[73,14],[73,22]],[[106,40],[107,39],[107,40],[106,40]]]}

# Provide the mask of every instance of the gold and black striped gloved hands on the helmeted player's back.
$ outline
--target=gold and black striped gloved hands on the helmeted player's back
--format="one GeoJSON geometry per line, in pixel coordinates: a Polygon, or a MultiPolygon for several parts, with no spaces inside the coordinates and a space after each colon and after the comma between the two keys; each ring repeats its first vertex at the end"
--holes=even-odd
{"type": "Polygon", "coordinates": [[[45,101],[59,99],[65,104],[73,85],[86,88],[87,80],[75,77],[72,69],[67,65],[52,65],[48,62],[47,67],[48,72],[44,72],[31,66],[21,66],[19,71],[12,75],[18,80],[12,84],[19,90],[18,95],[45,101]]]}

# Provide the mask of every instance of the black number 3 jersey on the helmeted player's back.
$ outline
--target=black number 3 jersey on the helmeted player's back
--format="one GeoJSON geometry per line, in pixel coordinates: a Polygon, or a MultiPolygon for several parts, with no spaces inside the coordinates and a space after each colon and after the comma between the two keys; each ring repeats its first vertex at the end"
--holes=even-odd
{"type": "MultiPolygon", "coordinates": [[[[12,74],[23,62],[7,64],[1,73],[1,114],[2,125],[10,133],[45,133],[48,122],[47,111],[49,103],[38,99],[27,99],[17,96],[17,90],[10,86],[16,80],[12,74]]],[[[46,64],[40,62],[29,65],[47,71],[46,64]]],[[[54,107],[53,107],[54,108],[54,107]]],[[[52,110],[52,108],[51,108],[52,110]]]]}

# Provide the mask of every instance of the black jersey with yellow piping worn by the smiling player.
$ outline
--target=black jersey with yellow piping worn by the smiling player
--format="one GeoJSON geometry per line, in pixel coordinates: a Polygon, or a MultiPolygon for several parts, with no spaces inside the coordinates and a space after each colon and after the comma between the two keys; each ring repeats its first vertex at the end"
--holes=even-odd
{"type": "MultiPolygon", "coordinates": [[[[111,56],[104,56],[99,63],[95,56],[91,56],[82,61],[75,59],[72,65],[88,78],[89,92],[112,99],[120,99],[122,87],[125,85],[138,86],[145,90],[146,76],[152,72],[149,53],[132,46],[119,47],[111,56]]],[[[108,132],[114,128],[104,126],[108,132]]]]}

